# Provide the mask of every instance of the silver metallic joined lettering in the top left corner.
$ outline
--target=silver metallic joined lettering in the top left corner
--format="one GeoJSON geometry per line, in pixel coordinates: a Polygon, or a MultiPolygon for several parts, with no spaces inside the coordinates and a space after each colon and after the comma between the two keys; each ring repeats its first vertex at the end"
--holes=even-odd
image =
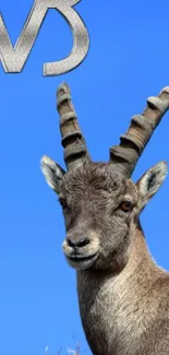
{"type": "Polygon", "coordinates": [[[0,15],[0,61],[8,73],[23,70],[49,9],[58,10],[71,26],[74,45],[69,57],[45,63],[44,75],[58,75],[77,67],[86,57],[89,38],[87,29],[73,5],[80,0],[35,0],[23,31],[13,48],[2,15],[0,15]]]}

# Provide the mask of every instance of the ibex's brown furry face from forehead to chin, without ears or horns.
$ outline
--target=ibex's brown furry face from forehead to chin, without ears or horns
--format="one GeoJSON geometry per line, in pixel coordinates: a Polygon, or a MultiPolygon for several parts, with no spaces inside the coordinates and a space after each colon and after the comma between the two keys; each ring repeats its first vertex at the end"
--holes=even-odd
{"type": "Polygon", "coordinates": [[[137,192],[108,164],[88,164],[63,177],[63,250],[76,269],[119,268],[128,257],[137,192]],[[122,257],[122,258],[121,258],[122,257]]]}

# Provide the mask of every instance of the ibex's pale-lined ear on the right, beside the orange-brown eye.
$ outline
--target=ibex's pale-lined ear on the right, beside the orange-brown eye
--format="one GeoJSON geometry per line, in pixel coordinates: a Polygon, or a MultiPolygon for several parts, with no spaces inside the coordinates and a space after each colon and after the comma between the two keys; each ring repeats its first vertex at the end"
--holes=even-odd
{"type": "Polygon", "coordinates": [[[158,191],[167,175],[167,164],[160,162],[147,170],[136,182],[138,190],[137,212],[141,213],[152,197],[158,191]]]}

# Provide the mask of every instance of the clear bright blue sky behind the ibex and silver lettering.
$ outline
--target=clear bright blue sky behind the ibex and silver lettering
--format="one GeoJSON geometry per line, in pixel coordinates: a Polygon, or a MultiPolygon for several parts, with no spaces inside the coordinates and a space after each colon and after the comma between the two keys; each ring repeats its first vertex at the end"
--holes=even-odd
{"type": "MultiPolygon", "coordinates": [[[[1,0],[15,43],[33,0],[1,0]]],[[[56,111],[60,82],[71,85],[80,123],[95,161],[108,158],[131,116],[169,85],[169,2],[82,0],[76,10],[90,35],[86,60],[61,76],[43,78],[43,63],[65,57],[72,36],[50,10],[21,74],[0,66],[0,348],[3,355],[57,355],[79,342],[75,272],[62,255],[64,227],[57,197],[40,173],[47,154],[62,164],[56,111]]],[[[169,114],[145,150],[136,180],[160,159],[169,164],[169,114]]],[[[155,260],[169,269],[169,177],[145,209],[142,224],[155,260]]]]}

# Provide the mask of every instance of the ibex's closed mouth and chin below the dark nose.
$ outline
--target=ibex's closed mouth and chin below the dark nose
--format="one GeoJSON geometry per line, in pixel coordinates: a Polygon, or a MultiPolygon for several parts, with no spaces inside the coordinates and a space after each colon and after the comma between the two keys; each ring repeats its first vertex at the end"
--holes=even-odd
{"type": "Polygon", "coordinates": [[[74,255],[74,256],[65,256],[69,264],[76,269],[76,270],[85,270],[92,267],[92,264],[96,261],[98,258],[98,253],[93,253],[90,256],[80,256],[80,255],[74,255]]]}

